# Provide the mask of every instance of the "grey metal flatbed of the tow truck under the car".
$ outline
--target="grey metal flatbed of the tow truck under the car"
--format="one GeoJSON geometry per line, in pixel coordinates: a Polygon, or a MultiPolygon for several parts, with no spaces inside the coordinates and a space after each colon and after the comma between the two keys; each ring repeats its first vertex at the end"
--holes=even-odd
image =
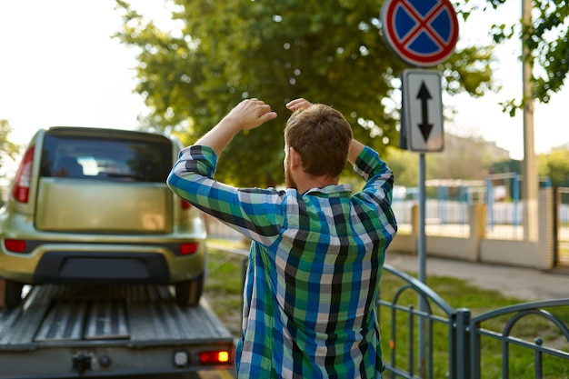
{"type": "Polygon", "coordinates": [[[44,285],[0,309],[0,378],[227,369],[233,346],[204,299],[180,306],[168,286],[44,285]]]}

